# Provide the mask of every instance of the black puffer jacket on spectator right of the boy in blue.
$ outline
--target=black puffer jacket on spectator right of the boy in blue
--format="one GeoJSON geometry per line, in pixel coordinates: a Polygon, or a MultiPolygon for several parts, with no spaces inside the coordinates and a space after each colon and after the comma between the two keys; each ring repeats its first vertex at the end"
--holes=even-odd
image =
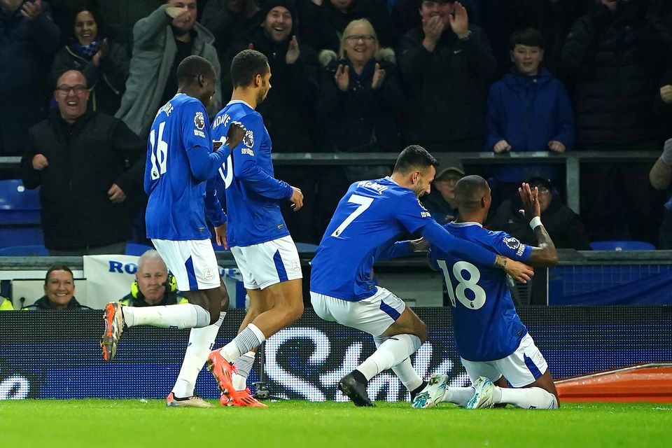
{"type": "Polygon", "coordinates": [[[596,4],[575,22],[563,48],[579,144],[661,136],[653,107],[668,65],[669,34],[657,18],[624,5],[610,13],[596,4]]]}

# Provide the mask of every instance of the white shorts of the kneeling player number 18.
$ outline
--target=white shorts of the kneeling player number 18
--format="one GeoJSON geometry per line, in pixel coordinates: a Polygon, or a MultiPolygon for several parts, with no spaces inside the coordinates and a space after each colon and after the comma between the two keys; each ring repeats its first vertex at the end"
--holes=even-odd
{"type": "Polygon", "coordinates": [[[529,333],[521,339],[518,349],[506,358],[493,361],[460,359],[472,382],[478,377],[486,377],[494,382],[503,376],[511,386],[524,387],[532,384],[548,370],[544,356],[535,346],[529,333]]]}

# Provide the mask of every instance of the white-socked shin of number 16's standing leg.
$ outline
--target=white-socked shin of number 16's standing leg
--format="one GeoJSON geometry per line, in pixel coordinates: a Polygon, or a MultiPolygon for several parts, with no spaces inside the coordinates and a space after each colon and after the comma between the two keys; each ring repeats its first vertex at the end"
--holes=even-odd
{"type": "Polygon", "coordinates": [[[173,387],[173,393],[176,397],[185,398],[194,394],[196,378],[208,358],[219,328],[224,321],[224,316],[226,316],[226,312],[222,311],[216,323],[203,328],[192,328],[189,333],[189,343],[184,352],[180,374],[173,387]]]}

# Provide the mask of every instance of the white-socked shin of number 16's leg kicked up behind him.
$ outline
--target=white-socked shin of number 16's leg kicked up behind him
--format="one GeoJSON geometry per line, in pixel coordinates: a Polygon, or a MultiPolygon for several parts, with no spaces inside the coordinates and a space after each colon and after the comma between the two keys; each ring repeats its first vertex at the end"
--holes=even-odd
{"type": "Polygon", "coordinates": [[[210,323],[210,313],[196,304],[163,307],[124,307],[124,322],[129,327],[151,325],[160,328],[201,328],[210,323]]]}

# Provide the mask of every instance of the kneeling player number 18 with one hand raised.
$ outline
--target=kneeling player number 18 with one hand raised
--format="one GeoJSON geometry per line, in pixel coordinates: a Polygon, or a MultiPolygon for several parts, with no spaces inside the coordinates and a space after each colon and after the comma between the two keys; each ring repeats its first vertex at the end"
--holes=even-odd
{"type": "MultiPolygon", "coordinates": [[[[540,219],[538,190],[522,184],[524,216],[530,218],[538,247],[526,246],[505,232],[482,227],[490,208],[490,188],[480,176],[455,186],[459,216],[444,225],[452,235],[532,266],[558,262],[553,241],[540,219]]],[[[451,304],[457,351],[473,387],[448,387],[442,401],[475,409],[507,403],[524,409],[556,409],[558,393],[546,360],[516,314],[504,272],[431,245],[430,264],[443,272],[451,304]],[[514,388],[507,388],[507,380],[514,388]]],[[[413,407],[435,402],[416,396],[413,407]]]]}

